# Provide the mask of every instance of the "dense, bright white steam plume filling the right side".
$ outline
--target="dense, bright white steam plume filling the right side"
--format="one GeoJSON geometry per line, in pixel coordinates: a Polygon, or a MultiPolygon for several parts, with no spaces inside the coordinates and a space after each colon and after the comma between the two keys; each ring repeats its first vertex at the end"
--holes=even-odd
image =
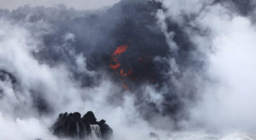
{"type": "Polygon", "coordinates": [[[183,25],[190,40],[207,56],[206,73],[195,76],[200,80],[198,100],[190,106],[189,123],[217,132],[255,132],[256,31],[252,19],[209,1],[163,3],[167,11],[161,17],[183,25]]]}

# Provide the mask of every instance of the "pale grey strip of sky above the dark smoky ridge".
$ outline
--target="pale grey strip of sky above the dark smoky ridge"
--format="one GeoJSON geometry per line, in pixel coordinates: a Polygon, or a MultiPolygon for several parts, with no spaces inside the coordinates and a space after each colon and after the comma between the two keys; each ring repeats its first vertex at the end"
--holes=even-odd
{"type": "Polygon", "coordinates": [[[95,9],[113,5],[119,0],[0,0],[0,8],[14,9],[23,5],[52,7],[64,3],[68,8],[95,9]]]}

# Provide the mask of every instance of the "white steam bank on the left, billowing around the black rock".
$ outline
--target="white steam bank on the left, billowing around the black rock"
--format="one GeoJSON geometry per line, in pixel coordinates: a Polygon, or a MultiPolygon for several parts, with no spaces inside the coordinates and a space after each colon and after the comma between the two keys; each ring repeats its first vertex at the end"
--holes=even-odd
{"type": "MultiPolygon", "coordinates": [[[[122,87],[108,80],[108,77],[102,78],[96,87],[80,87],[65,65],[49,66],[34,58],[32,53],[37,52],[38,46],[42,45],[39,38],[9,21],[1,20],[0,25],[0,68],[8,70],[20,84],[15,90],[10,81],[0,83],[3,88],[0,99],[0,139],[55,140],[58,138],[52,135],[49,127],[59,113],[85,113],[88,110],[99,116],[98,119],[107,120],[114,130],[113,139],[140,140],[147,138],[149,132],[162,133],[141,118],[129,91],[123,92],[126,95],[121,104],[109,104],[108,97],[113,92],[121,92],[122,87]],[[52,114],[39,115],[34,97],[44,98],[52,114]]],[[[81,67],[84,66],[83,59],[83,56],[78,55],[77,63],[81,67]]],[[[146,99],[152,102],[160,100],[159,96],[153,94],[153,89],[145,88],[143,94],[146,99]]]]}

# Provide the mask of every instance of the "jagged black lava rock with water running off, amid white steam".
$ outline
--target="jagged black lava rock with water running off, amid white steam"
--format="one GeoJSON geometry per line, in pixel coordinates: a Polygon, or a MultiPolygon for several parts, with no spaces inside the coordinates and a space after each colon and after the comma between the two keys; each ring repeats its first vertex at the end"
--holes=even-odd
{"type": "Polygon", "coordinates": [[[105,123],[105,120],[96,121],[93,112],[87,112],[82,118],[78,112],[60,114],[52,126],[53,133],[57,137],[73,137],[77,139],[110,139],[113,130],[105,123]]]}

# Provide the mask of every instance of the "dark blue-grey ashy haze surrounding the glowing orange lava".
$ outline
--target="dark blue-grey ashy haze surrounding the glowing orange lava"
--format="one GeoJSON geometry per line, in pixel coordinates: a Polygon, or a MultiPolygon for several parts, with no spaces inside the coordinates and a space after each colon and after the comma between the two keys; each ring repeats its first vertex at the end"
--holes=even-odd
{"type": "MultiPolygon", "coordinates": [[[[189,55],[195,49],[193,44],[182,29],[171,23],[168,30],[178,32],[173,40],[181,48],[170,50],[155,15],[160,8],[161,3],[144,1],[122,1],[112,8],[92,13],[77,12],[65,7],[23,7],[7,14],[6,19],[25,26],[32,31],[32,36],[39,37],[41,42],[37,50],[32,52],[39,63],[50,66],[67,65],[73,78],[81,81],[82,87],[96,86],[104,73],[113,77],[113,81],[121,82],[120,87],[125,85],[131,88],[135,96],[139,94],[137,92],[143,92],[145,84],[151,83],[155,90],[166,96],[166,103],[162,104],[166,109],[154,111],[157,114],[160,111],[172,114],[180,105],[174,88],[171,90],[169,87],[172,86],[172,81],[169,81],[166,73],[171,66],[176,67],[176,63],[180,67],[173,69],[180,71],[189,65],[200,65],[200,62],[190,59],[189,55]],[[55,20],[55,17],[60,19],[55,20]],[[117,62],[112,61],[111,54],[122,45],[127,49],[120,57],[115,58],[120,66],[113,69],[110,65],[117,62]],[[78,69],[81,65],[77,63],[78,55],[86,58],[86,72],[78,69]],[[170,58],[175,59],[172,65],[169,64],[170,58]],[[122,77],[120,73],[129,73],[129,76],[122,77]],[[170,100],[175,101],[169,102],[170,100]]],[[[81,61],[83,63],[83,58],[81,61]]],[[[138,98],[141,96],[138,95],[138,98]]],[[[156,108],[155,103],[148,104],[152,104],[150,108],[156,108]]]]}

